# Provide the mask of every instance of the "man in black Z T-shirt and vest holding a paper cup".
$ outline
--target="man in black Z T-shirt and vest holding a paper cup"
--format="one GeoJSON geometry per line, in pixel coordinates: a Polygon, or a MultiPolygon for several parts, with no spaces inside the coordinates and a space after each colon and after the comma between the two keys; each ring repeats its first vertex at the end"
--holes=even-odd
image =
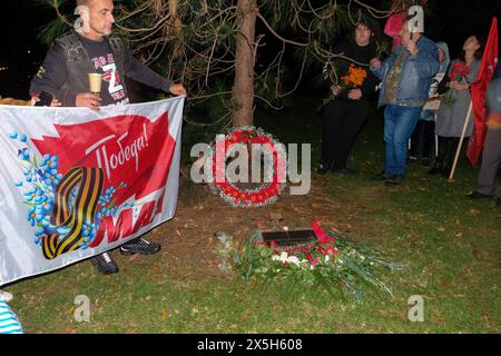
{"type": "MultiPolygon", "coordinates": [[[[171,83],[145,67],[112,34],[115,22],[112,0],[77,0],[84,26],[58,38],[47,53],[42,67],[31,81],[30,92],[37,97],[42,90],[55,96],[65,107],[86,107],[99,110],[100,106],[129,102],[124,77],[174,96],[186,95],[183,85],[171,83]],[[99,95],[89,92],[89,73],[102,75],[99,95]]],[[[136,238],[120,247],[125,255],[151,255],[160,245],[136,238]]],[[[108,253],[91,259],[102,274],[118,271],[108,253]]]]}

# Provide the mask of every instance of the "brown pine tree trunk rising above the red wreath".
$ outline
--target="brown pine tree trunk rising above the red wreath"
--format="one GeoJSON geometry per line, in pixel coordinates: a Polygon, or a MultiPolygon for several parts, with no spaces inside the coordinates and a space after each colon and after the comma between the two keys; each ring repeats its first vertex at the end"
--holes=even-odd
{"type": "Polygon", "coordinates": [[[256,42],[256,0],[238,0],[240,18],[235,55],[235,82],[232,90],[233,126],[254,125],[254,49],[256,42]]]}

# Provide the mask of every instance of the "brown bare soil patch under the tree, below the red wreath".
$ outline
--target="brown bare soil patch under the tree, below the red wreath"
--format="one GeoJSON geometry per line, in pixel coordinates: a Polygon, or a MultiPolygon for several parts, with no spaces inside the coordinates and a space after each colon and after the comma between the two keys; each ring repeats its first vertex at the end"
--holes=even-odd
{"type": "MultiPolygon", "coordinates": [[[[161,243],[160,261],[156,265],[164,273],[232,278],[218,268],[215,249],[219,243],[214,237],[216,233],[226,233],[242,241],[258,229],[304,228],[316,219],[326,230],[346,234],[353,228],[351,217],[363,214],[365,209],[326,194],[322,180],[314,180],[306,196],[291,196],[287,188],[273,205],[240,208],[225,202],[208,186],[181,179],[175,218],[154,229],[146,238],[161,243]],[[283,219],[273,221],[271,215],[283,219]]],[[[143,260],[145,257],[138,258],[143,260]]]]}

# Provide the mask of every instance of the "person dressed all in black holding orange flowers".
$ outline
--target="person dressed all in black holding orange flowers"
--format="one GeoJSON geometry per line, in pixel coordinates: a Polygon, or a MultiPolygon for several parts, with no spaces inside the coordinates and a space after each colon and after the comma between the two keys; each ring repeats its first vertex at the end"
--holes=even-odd
{"type": "Polygon", "coordinates": [[[328,170],[342,174],[353,172],[347,168],[347,159],[363,123],[369,116],[369,97],[377,86],[376,77],[369,70],[372,58],[377,57],[375,26],[358,22],[348,41],[334,48],[334,53],[343,57],[336,61],[337,73],[343,82],[331,87],[333,100],[322,111],[323,136],[321,165],[317,170],[325,175],[328,170]],[[353,85],[350,75],[358,77],[353,85]],[[344,88],[343,88],[343,87],[344,88]]]}

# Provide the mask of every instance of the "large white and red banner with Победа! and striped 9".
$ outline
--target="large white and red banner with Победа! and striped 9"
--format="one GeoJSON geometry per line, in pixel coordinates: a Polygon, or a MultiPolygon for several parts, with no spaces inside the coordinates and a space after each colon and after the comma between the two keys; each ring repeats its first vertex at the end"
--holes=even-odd
{"type": "Polygon", "coordinates": [[[174,217],[184,100],[97,112],[0,106],[0,286],[174,217]]]}

